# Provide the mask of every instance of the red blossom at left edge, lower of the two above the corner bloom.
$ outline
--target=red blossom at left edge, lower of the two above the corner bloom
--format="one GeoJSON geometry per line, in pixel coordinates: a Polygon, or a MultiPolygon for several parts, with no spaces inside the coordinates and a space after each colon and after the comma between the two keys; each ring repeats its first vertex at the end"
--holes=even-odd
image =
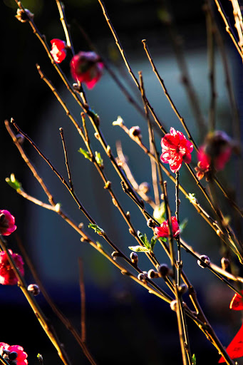
{"type": "MultiPolygon", "coordinates": [[[[14,263],[16,267],[18,267],[21,275],[24,275],[24,261],[22,257],[18,254],[13,254],[11,250],[9,250],[11,257],[14,259],[14,263]]],[[[11,264],[9,263],[8,257],[5,251],[0,252],[0,284],[3,285],[15,285],[18,282],[18,278],[14,273],[14,270],[11,268],[11,264]]]]}

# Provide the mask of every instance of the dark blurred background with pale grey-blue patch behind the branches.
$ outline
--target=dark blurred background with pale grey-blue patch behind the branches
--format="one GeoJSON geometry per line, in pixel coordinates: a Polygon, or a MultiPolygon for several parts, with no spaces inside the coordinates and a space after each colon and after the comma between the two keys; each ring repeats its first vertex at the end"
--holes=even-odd
{"type": "MultiPolygon", "coordinates": [[[[66,1],[64,4],[76,51],[91,49],[84,37],[83,31],[85,31],[86,35],[91,38],[93,45],[98,49],[100,56],[109,62],[120,81],[142,106],[140,95],[133,85],[120,53],[118,53],[98,1],[72,0],[66,1]]],[[[24,1],[23,5],[35,14],[36,26],[41,33],[46,35],[48,42],[52,38],[64,39],[56,1],[31,0],[24,1]]],[[[165,128],[169,130],[171,126],[174,126],[176,129],[182,130],[182,126],[175,113],[172,112],[154,73],[152,73],[141,43],[144,38],[148,41],[148,47],[157,69],[160,71],[160,76],[164,79],[175,105],[185,118],[197,144],[200,145],[204,140],[205,133],[198,128],[190,101],[182,84],[182,73],[177,64],[175,49],[166,25],[168,18],[164,2],[159,0],[106,0],[105,5],[133,72],[138,76],[138,71],[143,71],[147,96],[165,128]]],[[[203,1],[170,1],[170,9],[177,27],[177,36],[184,51],[187,68],[200,102],[202,115],[207,123],[210,85],[203,5],[203,1]]],[[[224,6],[228,14],[231,14],[229,1],[225,1],[224,6]]],[[[180,364],[177,321],[175,313],[170,310],[170,307],[157,297],[153,297],[152,294],[148,294],[145,289],[139,287],[128,277],[121,275],[112,264],[106,262],[105,258],[100,257],[88,244],[80,242],[78,234],[66,225],[58,215],[24,200],[5,183],[5,178],[14,173],[26,192],[47,202],[41,187],[11,142],[11,138],[4,128],[4,119],[14,118],[21,129],[36,141],[46,157],[67,178],[58,131],[58,128],[62,127],[66,136],[74,187],[84,207],[127,255],[130,255],[128,246],[136,245],[135,240],[128,232],[128,227],[110,201],[110,195],[103,189],[103,183],[98,173],[91,163],[78,153],[78,148],[84,148],[83,141],[78,137],[78,133],[76,133],[56,98],[46,84],[41,81],[36,71],[36,63],[40,64],[42,71],[51,79],[78,120],[80,120],[81,110],[76,106],[68,91],[63,88],[60,78],[51,66],[46,51],[36,36],[33,35],[29,24],[21,24],[14,18],[16,9],[14,0],[1,1],[1,25],[3,26],[2,34],[4,34],[1,38],[0,143],[3,161],[0,175],[1,209],[9,210],[16,217],[16,225],[18,226],[16,232],[8,238],[9,247],[19,252],[17,242],[23,243],[48,294],[63,313],[71,319],[73,326],[78,331],[81,327],[78,258],[81,258],[86,287],[87,342],[98,364],[157,365],[167,364],[169,361],[170,364],[180,364]]],[[[234,91],[240,109],[242,63],[229,36],[224,31],[224,26],[216,9],[214,9],[214,13],[219,29],[222,31],[234,91]]],[[[225,130],[233,137],[232,111],[229,106],[222,60],[218,50],[216,50],[215,57],[217,129],[225,130]]],[[[68,55],[66,61],[61,64],[61,68],[71,81],[70,60],[71,55],[68,55]]],[[[147,124],[143,117],[128,103],[107,71],[95,88],[87,91],[87,95],[91,107],[100,115],[101,129],[113,153],[116,154],[115,143],[120,140],[123,145],[123,152],[128,156],[130,168],[138,183],[148,181],[151,184],[150,161],[145,158],[145,155],[133,141],[128,140],[120,128],[112,125],[113,120],[116,120],[118,115],[122,116],[128,128],[133,125],[140,125],[144,142],[148,145],[147,124]]],[[[121,190],[119,178],[105,158],[98,141],[93,138],[91,125],[88,125],[88,130],[93,149],[101,153],[105,161],[105,173],[112,181],[118,199],[123,202],[125,212],[130,211],[135,229],[151,237],[151,231],[146,226],[143,216],[121,190]]],[[[160,145],[160,138],[161,135],[157,133],[157,146],[160,145]]],[[[89,231],[88,221],[78,211],[78,207],[68,195],[65,187],[46,163],[41,160],[36,151],[26,142],[24,148],[56,201],[61,203],[63,210],[77,223],[83,222],[85,229],[93,235],[94,240],[99,240],[106,250],[112,252],[101,237],[89,231]]],[[[237,157],[233,156],[232,162],[227,165],[224,173],[219,175],[229,188],[238,181],[236,177],[239,171],[236,170],[236,164],[237,157]]],[[[192,165],[196,165],[195,152],[192,154],[192,165]]],[[[188,191],[195,192],[196,197],[200,200],[202,196],[196,190],[187,170],[182,168],[181,171],[182,185],[185,185],[188,191]]],[[[238,185],[235,185],[237,189],[239,189],[238,185]]],[[[171,197],[171,209],[174,212],[175,187],[170,181],[168,181],[168,189],[171,197]]],[[[221,196],[219,195],[219,197],[221,196]]],[[[182,201],[180,205],[181,220],[188,220],[182,237],[195,247],[195,250],[210,255],[212,262],[220,264],[218,237],[215,237],[214,232],[210,227],[207,227],[200,215],[195,215],[195,210],[190,202],[185,197],[181,196],[180,198],[182,201]]],[[[202,205],[212,214],[210,207],[205,202],[202,205]]],[[[222,207],[229,216],[233,214],[224,200],[222,200],[222,207]]],[[[150,207],[148,210],[152,214],[150,207]]],[[[160,262],[168,263],[168,259],[161,252],[160,247],[155,247],[155,253],[160,262]]],[[[234,293],[219,282],[212,273],[205,270],[202,272],[193,257],[188,257],[185,252],[182,252],[182,259],[185,272],[192,284],[195,285],[205,314],[212,322],[219,339],[227,346],[241,323],[240,314],[229,311],[229,302],[234,293]]],[[[143,257],[143,254],[140,255],[140,267],[147,271],[151,268],[150,262],[143,257]]],[[[241,270],[239,270],[239,274],[241,274],[241,270]]],[[[28,284],[33,282],[28,267],[26,267],[26,282],[28,284]]],[[[167,290],[162,280],[160,284],[167,290]]],[[[44,364],[61,364],[55,349],[39,326],[29,305],[26,304],[19,288],[1,287],[0,292],[1,311],[4,314],[1,316],[0,341],[24,346],[29,354],[29,364],[38,363],[36,359],[38,353],[43,355],[44,364]]],[[[72,364],[88,364],[81,349],[48,307],[42,294],[36,297],[36,300],[56,328],[72,364]]],[[[187,295],[185,295],[185,301],[188,302],[187,295]]],[[[188,320],[188,329],[192,354],[196,354],[197,364],[205,364],[206,361],[207,364],[216,364],[219,359],[217,351],[190,320],[188,320]]]]}

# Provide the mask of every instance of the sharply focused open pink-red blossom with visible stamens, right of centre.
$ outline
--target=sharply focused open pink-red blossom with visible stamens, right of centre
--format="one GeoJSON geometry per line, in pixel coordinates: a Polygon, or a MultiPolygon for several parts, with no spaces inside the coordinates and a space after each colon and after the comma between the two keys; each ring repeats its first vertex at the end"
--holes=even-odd
{"type": "Polygon", "coordinates": [[[162,138],[161,146],[162,155],[160,160],[162,160],[162,163],[169,163],[172,173],[177,173],[180,170],[182,161],[190,163],[192,160],[192,143],[175,128],[170,128],[170,133],[162,138]]]}

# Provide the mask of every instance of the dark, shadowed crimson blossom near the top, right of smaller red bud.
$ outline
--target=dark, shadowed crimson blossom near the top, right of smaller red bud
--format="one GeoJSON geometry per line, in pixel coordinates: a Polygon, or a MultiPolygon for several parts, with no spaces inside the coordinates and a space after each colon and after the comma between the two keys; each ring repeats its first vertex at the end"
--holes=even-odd
{"type": "Polygon", "coordinates": [[[79,52],[71,59],[71,74],[75,81],[86,83],[88,88],[93,88],[100,80],[104,64],[95,52],[79,52]]]}

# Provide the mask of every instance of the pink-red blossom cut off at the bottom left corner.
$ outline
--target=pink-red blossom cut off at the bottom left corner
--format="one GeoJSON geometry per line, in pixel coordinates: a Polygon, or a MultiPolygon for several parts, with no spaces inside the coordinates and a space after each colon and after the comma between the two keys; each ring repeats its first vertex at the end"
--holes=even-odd
{"type": "Polygon", "coordinates": [[[26,360],[28,355],[24,352],[23,347],[19,345],[10,346],[9,344],[0,342],[0,354],[10,365],[14,364],[14,362],[12,362],[14,360],[16,361],[16,365],[28,365],[28,360],[26,360]]]}

